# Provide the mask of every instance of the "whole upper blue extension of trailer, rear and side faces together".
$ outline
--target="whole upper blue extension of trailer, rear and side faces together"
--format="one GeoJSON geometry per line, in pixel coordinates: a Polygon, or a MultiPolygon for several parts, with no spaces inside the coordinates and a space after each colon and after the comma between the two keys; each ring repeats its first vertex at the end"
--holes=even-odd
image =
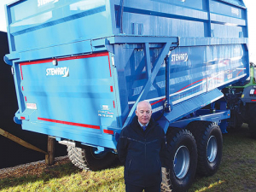
{"type": "Polygon", "coordinates": [[[9,44],[11,52],[38,49],[121,30],[148,36],[247,38],[247,10],[241,1],[207,1],[130,0],[122,7],[113,0],[20,0],[6,9],[9,44]]]}

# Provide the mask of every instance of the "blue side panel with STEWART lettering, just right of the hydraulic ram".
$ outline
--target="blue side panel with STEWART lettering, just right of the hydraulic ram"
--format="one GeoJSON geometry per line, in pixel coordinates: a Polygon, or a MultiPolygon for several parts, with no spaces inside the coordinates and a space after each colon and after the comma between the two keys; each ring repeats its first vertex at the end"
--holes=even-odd
{"type": "Polygon", "coordinates": [[[181,47],[171,56],[170,93],[173,104],[207,91],[206,47],[181,47]]]}

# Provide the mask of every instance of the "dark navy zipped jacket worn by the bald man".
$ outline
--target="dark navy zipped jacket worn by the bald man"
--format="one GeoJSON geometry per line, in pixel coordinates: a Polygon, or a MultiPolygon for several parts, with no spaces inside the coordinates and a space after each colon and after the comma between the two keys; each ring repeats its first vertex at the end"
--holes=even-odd
{"type": "Polygon", "coordinates": [[[119,160],[125,165],[125,183],[142,187],[161,183],[161,162],[166,160],[166,137],[153,119],[143,131],[135,116],[131,124],[121,131],[117,150],[119,160]]]}

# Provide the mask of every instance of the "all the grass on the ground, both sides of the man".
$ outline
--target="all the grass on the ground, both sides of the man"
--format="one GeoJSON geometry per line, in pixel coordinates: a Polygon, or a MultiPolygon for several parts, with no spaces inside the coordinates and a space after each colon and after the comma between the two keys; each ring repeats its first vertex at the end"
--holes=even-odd
{"type": "MultiPolygon", "coordinates": [[[[81,171],[70,162],[33,166],[0,177],[0,191],[125,191],[123,166],[81,171]]],[[[224,134],[223,160],[212,177],[195,177],[192,191],[256,191],[256,140],[247,125],[224,134]]]]}

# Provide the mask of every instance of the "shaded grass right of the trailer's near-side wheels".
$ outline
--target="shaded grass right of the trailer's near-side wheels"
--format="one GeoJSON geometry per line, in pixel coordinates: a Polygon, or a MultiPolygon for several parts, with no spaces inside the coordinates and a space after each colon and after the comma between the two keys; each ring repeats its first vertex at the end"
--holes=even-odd
{"type": "Polygon", "coordinates": [[[212,177],[195,177],[189,191],[256,191],[256,140],[247,125],[224,134],[224,150],[218,172],[212,177]]]}

